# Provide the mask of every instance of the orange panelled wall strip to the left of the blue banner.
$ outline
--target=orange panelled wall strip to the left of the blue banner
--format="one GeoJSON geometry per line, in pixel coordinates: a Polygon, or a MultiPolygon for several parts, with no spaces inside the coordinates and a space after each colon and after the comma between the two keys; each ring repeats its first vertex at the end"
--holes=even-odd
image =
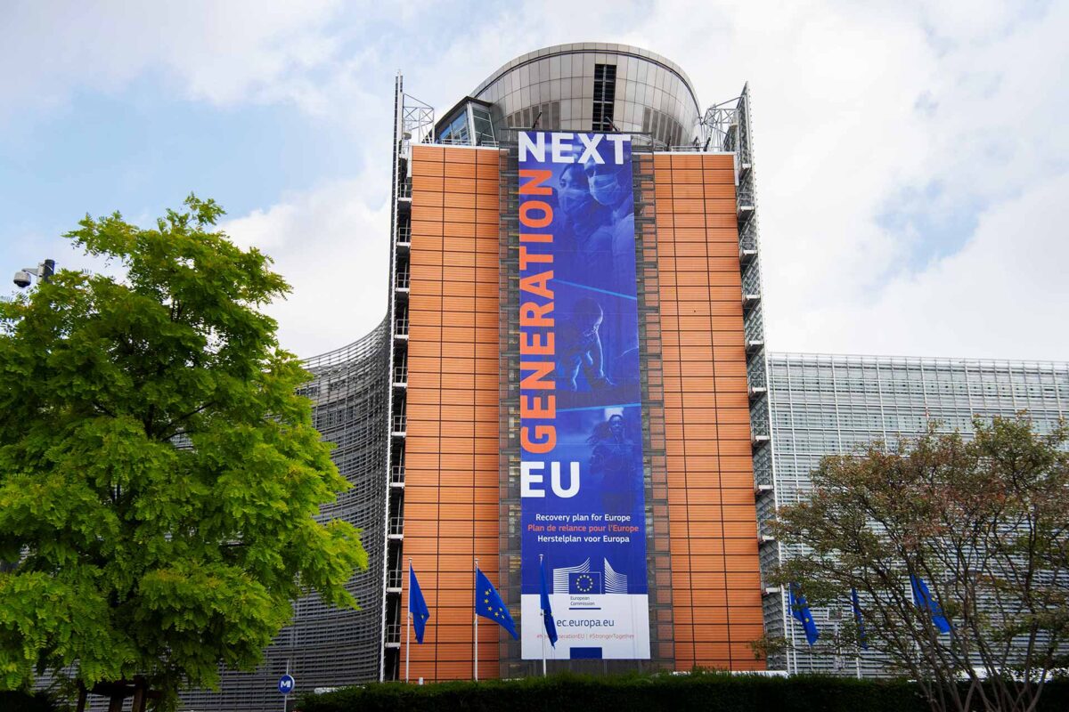
{"type": "MultiPolygon", "coordinates": [[[[410,676],[466,679],[477,554],[497,581],[498,154],[418,145],[412,171],[403,549],[431,623],[409,651],[410,676]]],[[[480,630],[483,677],[497,673],[493,629],[480,630]]]]}

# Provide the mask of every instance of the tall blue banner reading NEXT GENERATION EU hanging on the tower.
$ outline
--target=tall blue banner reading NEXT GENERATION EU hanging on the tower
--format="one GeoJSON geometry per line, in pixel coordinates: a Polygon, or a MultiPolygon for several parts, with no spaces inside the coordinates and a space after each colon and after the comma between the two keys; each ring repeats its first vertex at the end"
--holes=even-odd
{"type": "Polygon", "coordinates": [[[523,656],[649,659],[631,137],[520,135],[523,656]],[[558,642],[540,617],[549,573],[558,642]]]}

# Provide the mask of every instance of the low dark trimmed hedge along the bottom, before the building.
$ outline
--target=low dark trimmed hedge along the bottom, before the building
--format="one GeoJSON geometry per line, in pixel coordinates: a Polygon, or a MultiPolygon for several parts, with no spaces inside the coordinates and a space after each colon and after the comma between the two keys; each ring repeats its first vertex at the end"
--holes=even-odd
{"type": "MultiPolygon", "coordinates": [[[[928,712],[919,689],[895,680],[822,676],[657,675],[548,678],[428,685],[371,683],[306,695],[301,712],[928,712]]],[[[1069,684],[1053,683],[1039,710],[1069,710],[1069,684]]]]}

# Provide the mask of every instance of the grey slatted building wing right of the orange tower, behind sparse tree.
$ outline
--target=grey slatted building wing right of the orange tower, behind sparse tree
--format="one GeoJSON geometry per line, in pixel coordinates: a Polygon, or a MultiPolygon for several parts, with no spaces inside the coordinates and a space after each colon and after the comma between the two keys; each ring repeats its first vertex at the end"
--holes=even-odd
{"type": "MultiPolygon", "coordinates": [[[[769,394],[776,503],[792,505],[809,496],[811,473],[824,457],[850,455],[874,442],[920,438],[929,421],[938,422],[942,432],[957,430],[967,439],[974,417],[1026,411],[1038,432],[1051,432],[1069,412],[1069,363],[772,353],[769,394]]],[[[770,566],[807,553],[778,542],[762,550],[770,566]]],[[[774,661],[780,669],[889,675],[886,659],[874,650],[851,647],[834,658],[811,653],[801,644],[804,631],[790,610],[771,597],[768,603],[769,635],[800,642],[774,661]]],[[[815,605],[811,613],[822,635],[838,635],[852,615],[849,604],[838,610],[815,605]]]]}

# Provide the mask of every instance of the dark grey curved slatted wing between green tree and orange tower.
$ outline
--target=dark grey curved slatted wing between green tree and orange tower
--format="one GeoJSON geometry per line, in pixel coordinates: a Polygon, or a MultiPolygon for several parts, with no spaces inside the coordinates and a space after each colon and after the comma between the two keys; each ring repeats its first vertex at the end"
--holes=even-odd
{"type": "Polygon", "coordinates": [[[322,509],[321,519],[343,519],[362,529],[368,568],[346,586],[359,611],[324,605],[317,596],[297,601],[294,622],[267,649],[254,673],[223,673],[219,693],[184,696],[193,710],[265,710],[279,700],[278,679],[293,675],[300,691],[378,679],[383,633],[386,422],[389,398],[389,323],[305,362],[314,376],[301,393],[312,400],[313,423],[341,474],[353,485],[322,509]]]}

